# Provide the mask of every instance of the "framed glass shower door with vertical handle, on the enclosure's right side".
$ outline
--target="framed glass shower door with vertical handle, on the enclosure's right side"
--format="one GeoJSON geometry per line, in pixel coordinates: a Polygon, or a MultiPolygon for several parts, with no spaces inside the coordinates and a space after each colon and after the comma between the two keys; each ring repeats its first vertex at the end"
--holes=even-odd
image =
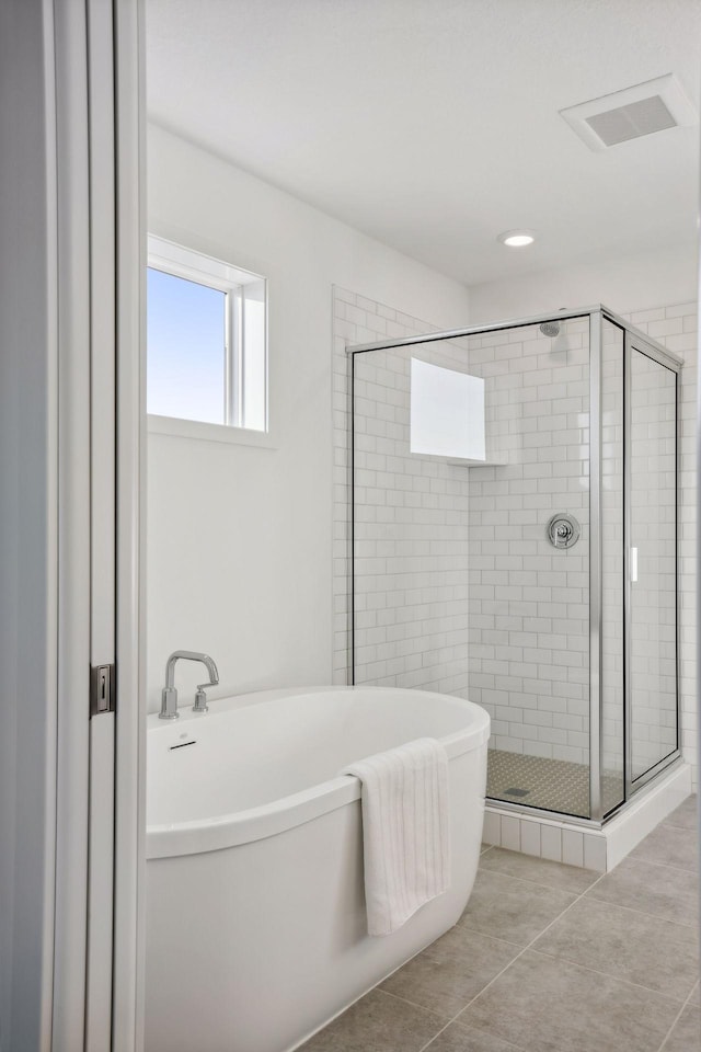
{"type": "MultiPolygon", "coordinates": [[[[629,342],[631,785],[677,748],[677,374],[629,342]]],[[[653,352],[654,353],[654,352],[653,352]]]]}

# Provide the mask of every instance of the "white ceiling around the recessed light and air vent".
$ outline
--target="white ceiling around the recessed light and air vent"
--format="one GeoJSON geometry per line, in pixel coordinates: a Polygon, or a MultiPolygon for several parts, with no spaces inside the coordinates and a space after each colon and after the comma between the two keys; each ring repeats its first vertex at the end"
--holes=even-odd
{"type": "Polygon", "coordinates": [[[690,244],[699,127],[591,152],[559,110],[674,72],[698,0],[146,0],[157,123],[468,285],[690,244]],[[528,249],[496,237],[531,228],[528,249]]]}

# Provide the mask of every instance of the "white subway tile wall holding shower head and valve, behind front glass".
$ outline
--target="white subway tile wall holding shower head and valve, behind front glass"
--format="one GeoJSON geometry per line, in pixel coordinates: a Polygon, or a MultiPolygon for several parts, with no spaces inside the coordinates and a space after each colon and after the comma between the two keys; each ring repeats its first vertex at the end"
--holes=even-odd
{"type": "Polygon", "coordinates": [[[507,464],[469,471],[470,683],[492,747],[589,762],[589,322],[471,338],[497,375],[507,464]],[[572,548],[547,535],[558,512],[572,548]]]}

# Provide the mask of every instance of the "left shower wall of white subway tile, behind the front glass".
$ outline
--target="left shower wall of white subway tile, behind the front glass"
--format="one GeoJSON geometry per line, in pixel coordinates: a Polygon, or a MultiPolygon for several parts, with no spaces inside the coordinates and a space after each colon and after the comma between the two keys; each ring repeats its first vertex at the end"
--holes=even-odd
{"type": "Polygon", "coordinates": [[[447,343],[355,357],[355,677],[467,697],[468,479],[410,451],[413,357],[467,371],[447,343]]]}

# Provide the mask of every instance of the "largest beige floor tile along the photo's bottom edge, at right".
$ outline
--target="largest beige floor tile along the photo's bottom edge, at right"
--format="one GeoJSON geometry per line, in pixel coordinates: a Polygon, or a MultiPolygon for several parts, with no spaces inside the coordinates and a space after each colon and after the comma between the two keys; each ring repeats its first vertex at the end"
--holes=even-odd
{"type": "Polygon", "coordinates": [[[657,1052],[677,1002],[532,950],[459,1016],[525,1052],[657,1052]]]}

